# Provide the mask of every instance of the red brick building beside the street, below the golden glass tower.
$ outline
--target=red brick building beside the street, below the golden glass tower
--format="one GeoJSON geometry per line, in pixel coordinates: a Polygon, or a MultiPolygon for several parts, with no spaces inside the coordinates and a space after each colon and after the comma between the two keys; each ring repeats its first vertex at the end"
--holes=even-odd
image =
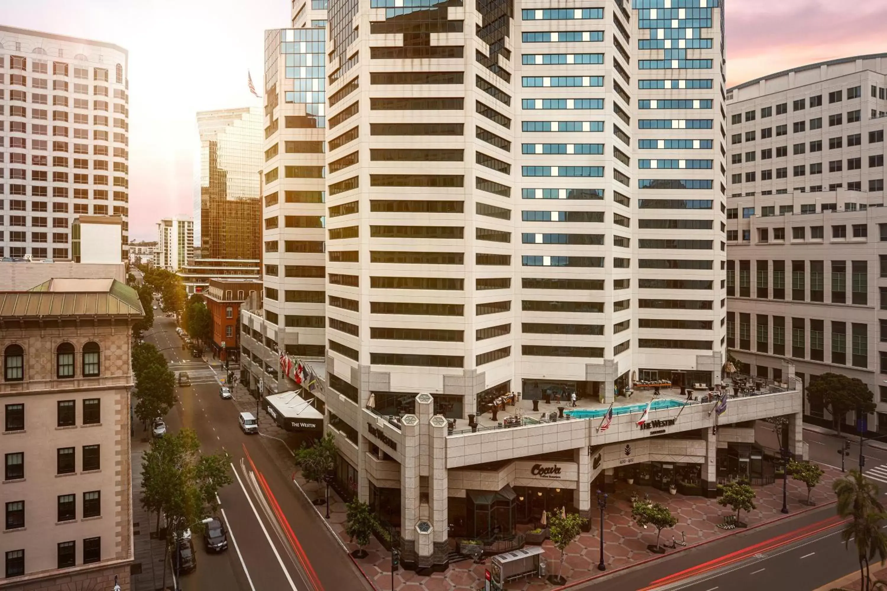
{"type": "Polygon", "coordinates": [[[202,293],[213,317],[213,355],[223,362],[239,360],[240,304],[250,292],[261,298],[262,282],[258,279],[210,279],[208,290],[202,293]]]}

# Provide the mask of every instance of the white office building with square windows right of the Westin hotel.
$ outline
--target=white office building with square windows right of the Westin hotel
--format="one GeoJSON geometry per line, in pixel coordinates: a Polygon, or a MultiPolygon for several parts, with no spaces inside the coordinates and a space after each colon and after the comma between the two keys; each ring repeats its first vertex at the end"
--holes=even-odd
{"type": "MultiPolygon", "coordinates": [[[[878,402],[867,421],[877,432],[887,432],[885,112],[887,54],[727,94],[727,344],[759,377],[781,380],[790,358],[805,385],[826,372],[860,378],[878,402]]],[[[804,412],[831,424],[822,400],[805,397],[804,412]]]]}

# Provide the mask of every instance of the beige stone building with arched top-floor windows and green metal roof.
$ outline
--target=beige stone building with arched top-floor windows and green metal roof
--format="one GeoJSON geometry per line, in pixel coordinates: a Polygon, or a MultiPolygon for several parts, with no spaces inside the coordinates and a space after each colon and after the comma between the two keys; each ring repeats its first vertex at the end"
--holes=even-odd
{"type": "Polygon", "coordinates": [[[0,589],[110,590],[116,575],[126,591],[130,330],[142,310],[110,279],[41,287],[0,292],[0,589]]]}

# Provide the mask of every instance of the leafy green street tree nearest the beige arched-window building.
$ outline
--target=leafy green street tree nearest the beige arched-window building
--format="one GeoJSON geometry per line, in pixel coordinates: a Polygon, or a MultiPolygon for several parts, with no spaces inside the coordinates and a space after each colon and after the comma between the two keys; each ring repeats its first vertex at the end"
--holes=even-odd
{"type": "Polygon", "coordinates": [[[200,440],[192,429],[152,441],[142,460],[142,503],[145,509],[158,511],[158,525],[160,513],[166,518],[166,552],[179,533],[200,524],[201,519],[217,509],[218,490],[232,483],[229,463],[227,453],[200,454],[200,440]]]}

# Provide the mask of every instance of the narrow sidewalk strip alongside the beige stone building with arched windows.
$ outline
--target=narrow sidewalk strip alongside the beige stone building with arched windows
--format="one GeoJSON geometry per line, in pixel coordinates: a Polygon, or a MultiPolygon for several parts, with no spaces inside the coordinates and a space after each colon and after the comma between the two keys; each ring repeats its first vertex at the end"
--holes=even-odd
{"type": "MultiPolygon", "coordinates": [[[[142,455],[150,447],[151,432],[143,430],[142,425],[134,424],[135,436],[132,438],[132,530],[133,549],[135,554],[134,571],[141,567],[141,572],[132,576],[132,591],[157,591],[162,588],[163,579],[163,541],[153,540],[151,533],[157,525],[157,515],[149,516],[142,508],[142,455]],[[153,517],[153,521],[152,521],[153,517]]],[[[172,585],[172,573],[167,565],[167,585],[172,585]]]]}

